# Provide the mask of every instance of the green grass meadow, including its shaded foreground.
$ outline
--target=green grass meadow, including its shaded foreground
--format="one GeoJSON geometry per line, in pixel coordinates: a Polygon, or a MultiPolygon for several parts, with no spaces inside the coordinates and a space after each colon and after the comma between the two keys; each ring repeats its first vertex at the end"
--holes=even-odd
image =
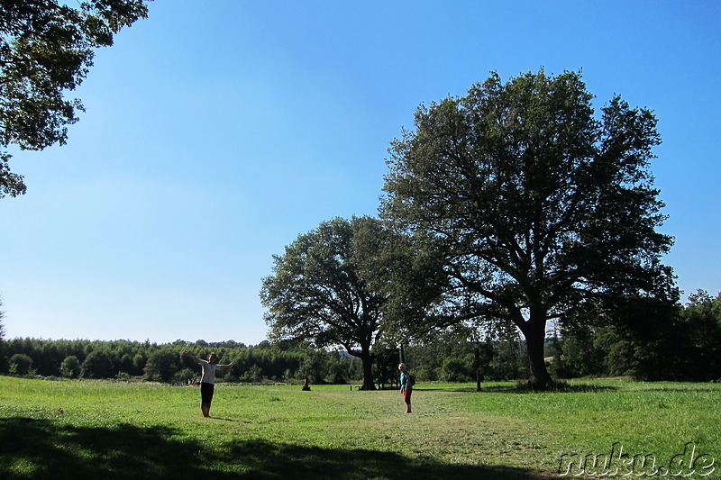
{"type": "Polygon", "coordinates": [[[0,376],[0,478],[521,479],[559,477],[560,466],[578,477],[604,473],[581,469],[585,456],[617,467],[613,448],[647,461],[618,477],[721,478],[718,384],[420,384],[411,414],[395,391],[222,384],[212,419],[199,397],[196,387],[0,376]]]}

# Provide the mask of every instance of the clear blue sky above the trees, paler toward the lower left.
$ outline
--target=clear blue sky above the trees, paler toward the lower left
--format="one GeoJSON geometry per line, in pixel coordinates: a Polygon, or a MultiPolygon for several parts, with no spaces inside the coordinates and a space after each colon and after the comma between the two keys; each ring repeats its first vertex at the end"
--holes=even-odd
{"type": "MultiPolygon", "coordinates": [[[[7,338],[266,338],[272,255],[377,213],[390,140],[496,70],[579,70],[659,118],[652,165],[686,294],[721,291],[716,1],[156,0],[70,95],[68,145],[14,153],[7,338]]],[[[684,300],[686,298],[684,295],[684,300]]]]}

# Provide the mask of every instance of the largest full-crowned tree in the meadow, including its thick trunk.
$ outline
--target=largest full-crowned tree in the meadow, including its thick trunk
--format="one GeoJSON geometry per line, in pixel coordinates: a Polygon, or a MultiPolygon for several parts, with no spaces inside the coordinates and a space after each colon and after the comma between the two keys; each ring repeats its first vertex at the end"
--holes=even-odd
{"type": "Polygon", "coordinates": [[[543,70],[415,113],[394,140],[381,216],[425,232],[444,261],[460,321],[513,322],[530,384],[553,384],[543,363],[547,322],[572,322],[617,299],[675,302],[660,258],[672,238],[649,161],[656,118],[615,96],[596,115],[580,73],[543,70]]]}

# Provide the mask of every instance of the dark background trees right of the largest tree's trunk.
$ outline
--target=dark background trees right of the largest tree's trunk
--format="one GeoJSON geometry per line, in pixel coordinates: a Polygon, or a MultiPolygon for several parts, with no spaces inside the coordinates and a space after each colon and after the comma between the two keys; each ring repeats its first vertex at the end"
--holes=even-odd
{"type": "Polygon", "coordinates": [[[547,342],[560,377],[721,381],[721,294],[699,290],[671,309],[633,309],[625,323],[561,331],[547,342]]]}

